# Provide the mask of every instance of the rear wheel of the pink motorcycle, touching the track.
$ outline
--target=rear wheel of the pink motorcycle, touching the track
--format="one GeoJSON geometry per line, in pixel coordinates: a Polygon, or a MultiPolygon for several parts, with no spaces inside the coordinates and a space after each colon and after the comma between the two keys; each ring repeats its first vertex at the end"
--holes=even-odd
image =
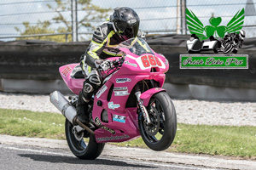
{"type": "Polygon", "coordinates": [[[65,122],[65,132],[69,149],[73,152],[73,155],[77,156],[79,159],[95,160],[98,156],[101,155],[105,144],[96,143],[95,136],[87,133],[86,131],[84,131],[84,136],[86,136],[87,139],[76,139],[73,134],[73,124],[67,119],[65,122]],[[85,143],[85,141],[88,142],[85,143]]]}

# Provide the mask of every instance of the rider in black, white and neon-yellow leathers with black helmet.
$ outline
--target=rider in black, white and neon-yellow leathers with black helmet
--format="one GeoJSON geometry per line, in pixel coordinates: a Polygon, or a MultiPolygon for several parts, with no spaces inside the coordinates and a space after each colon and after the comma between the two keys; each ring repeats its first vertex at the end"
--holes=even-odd
{"type": "Polygon", "coordinates": [[[94,31],[89,47],[80,58],[80,66],[85,77],[84,88],[79,93],[76,105],[80,122],[89,123],[88,102],[102,84],[102,77],[96,69],[102,68],[102,71],[107,71],[111,67],[108,58],[121,56],[119,49],[116,48],[120,42],[131,37],[145,37],[143,31],[139,30],[139,23],[140,19],[132,8],[114,8],[109,20],[94,31]]]}

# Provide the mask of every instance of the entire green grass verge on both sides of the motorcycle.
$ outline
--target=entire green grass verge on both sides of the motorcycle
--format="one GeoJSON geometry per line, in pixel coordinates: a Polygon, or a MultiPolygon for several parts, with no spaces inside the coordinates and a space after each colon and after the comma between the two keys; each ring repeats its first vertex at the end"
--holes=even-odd
{"type": "MultiPolygon", "coordinates": [[[[61,114],[0,109],[0,133],[14,136],[65,139],[61,114]]],[[[177,125],[177,134],[167,151],[221,156],[256,156],[256,127],[177,125]]],[[[148,148],[143,139],[117,143],[148,148]]]]}

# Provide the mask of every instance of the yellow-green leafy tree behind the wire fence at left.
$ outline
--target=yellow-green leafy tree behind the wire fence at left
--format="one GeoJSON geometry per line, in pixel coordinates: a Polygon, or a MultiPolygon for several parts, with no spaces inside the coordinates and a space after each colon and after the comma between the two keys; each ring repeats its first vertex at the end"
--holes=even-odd
{"type": "MultiPolygon", "coordinates": [[[[20,32],[20,36],[42,33],[63,33],[72,31],[71,17],[67,18],[61,13],[61,11],[71,11],[71,0],[55,0],[54,4],[48,3],[47,7],[55,11],[56,13],[51,21],[60,23],[60,26],[53,28],[49,20],[45,20],[43,22],[38,20],[36,26],[31,26],[29,22],[23,22],[23,26],[25,26],[25,31],[21,31],[19,28],[15,27],[16,31],[20,32]]],[[[106,20],[108,18],[108,11],[110,11],[110,8],[100,8],[92,4],[91,0],[78,0],[78,10],[81,11],[80,14],[83,15],[83,17],[78,17],[78,29],[83,27],[85,28],[85,31],[92,32],[95,29],[95,26],[91,24],[92,21],[106,20]]],[[[68,42],[72,40],[71,35],[69,35],[67,38],[68,42]]],[[[83,37],[80,37],[80,39],[81,38],[83,39],[83,37]]],[[[26,37],[22,39],[38,39],[55,42],[66,42],[65,35],[50,37],[26,37]]]]}

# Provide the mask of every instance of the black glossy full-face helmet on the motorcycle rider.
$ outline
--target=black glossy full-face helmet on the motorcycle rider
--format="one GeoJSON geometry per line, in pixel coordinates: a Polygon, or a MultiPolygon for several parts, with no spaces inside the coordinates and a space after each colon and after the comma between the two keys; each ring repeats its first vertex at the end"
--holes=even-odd
{"type": "Polygon", "coordinates": [[[137,37],[140,19],[137,13],[128,7],[114,8],[113,15],[110,16],[113,21],[114,31],[125,41],[131,37],[137,37]]]}

